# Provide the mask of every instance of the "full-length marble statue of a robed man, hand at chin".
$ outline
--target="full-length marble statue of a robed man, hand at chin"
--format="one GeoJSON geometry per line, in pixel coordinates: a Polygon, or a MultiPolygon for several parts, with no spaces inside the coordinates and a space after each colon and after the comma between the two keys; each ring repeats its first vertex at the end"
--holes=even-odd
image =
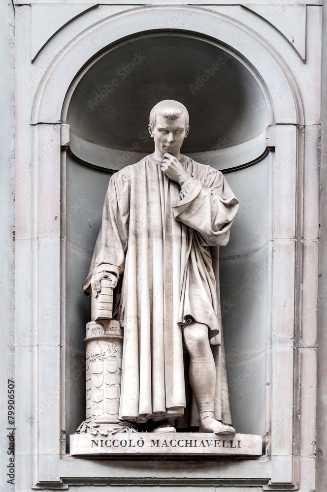
{"type": "Polygon", "coordinates": [[[102,278],[114,287],[113,318],[124,326],[119,418],[175,430],[186,407],[184,342],[199,430],[233,433],[209,248],[228,243],[238,200],[220,171],[180,154],[183,104],[159,102],[148,128],[155,151],[112,176],[83,285],[96,296],[102,278]]]}

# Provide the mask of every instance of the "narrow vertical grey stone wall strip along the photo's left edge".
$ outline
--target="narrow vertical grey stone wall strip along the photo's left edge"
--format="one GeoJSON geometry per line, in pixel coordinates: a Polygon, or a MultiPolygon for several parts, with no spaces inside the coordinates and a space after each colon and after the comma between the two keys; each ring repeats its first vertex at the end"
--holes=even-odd
{"type": "MultiPolygon", "coordinates": [[[[14,380],[14,9],[11,2],[0,5],[0,332],[1,332],[1,379],[0,379],[0,483],[3,491],[13,491],[8,455],[10,441],[7,428],[14,428],[8,420],[8,379],[14,380]]],[[[11,383],[10,383],[11,384],[11,383]]],[[[10,407],[11,409],[12,407],[10,407]]],[[[9,453],[11,449],[9,450],[9,453]]]]}

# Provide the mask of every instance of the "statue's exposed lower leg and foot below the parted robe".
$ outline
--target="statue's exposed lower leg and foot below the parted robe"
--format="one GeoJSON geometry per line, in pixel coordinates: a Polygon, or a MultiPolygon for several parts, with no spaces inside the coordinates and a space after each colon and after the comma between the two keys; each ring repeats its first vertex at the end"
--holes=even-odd
{"type": "Polygon", "coordinates": [[[234,433],[235,430],[215,419],[216,367],[211,352],[208,327],[190,323],[183,330],[186,348],[190,354],[190,384],[199,412],[200,431],[234,433]]]}

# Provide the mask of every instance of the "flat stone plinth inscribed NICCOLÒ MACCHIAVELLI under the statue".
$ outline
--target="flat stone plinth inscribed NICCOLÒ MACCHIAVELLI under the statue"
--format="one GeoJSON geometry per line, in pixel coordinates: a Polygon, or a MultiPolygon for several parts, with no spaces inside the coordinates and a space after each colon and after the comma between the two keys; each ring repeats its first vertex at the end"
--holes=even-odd
{"type": "Polygon", "coordinates": [[[81,458],[144,455],[261,456],[262,436],[210,432],[113,431],[70,435],[70,454],[81,458]]]}

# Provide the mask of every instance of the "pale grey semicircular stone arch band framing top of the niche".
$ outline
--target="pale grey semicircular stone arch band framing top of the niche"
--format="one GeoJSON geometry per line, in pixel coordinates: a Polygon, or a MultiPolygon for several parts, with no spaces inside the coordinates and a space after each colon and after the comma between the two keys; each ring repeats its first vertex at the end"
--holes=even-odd
{"type": "Polygon", "coordinates": [[[271,123],[304,123],[294,78],[273,47],[226,15],[195,6],[172,5],[133,8],[108,17],[77,36],[45,72],[35,93],[32,123],[61,121],[66,93],[76,74],[105,46],[139,32],[167,28],[197,32],[229,47],[262,80],[273,114],[271,123]],[[55,100],[53,94],[57,94],[55,100]]]}

